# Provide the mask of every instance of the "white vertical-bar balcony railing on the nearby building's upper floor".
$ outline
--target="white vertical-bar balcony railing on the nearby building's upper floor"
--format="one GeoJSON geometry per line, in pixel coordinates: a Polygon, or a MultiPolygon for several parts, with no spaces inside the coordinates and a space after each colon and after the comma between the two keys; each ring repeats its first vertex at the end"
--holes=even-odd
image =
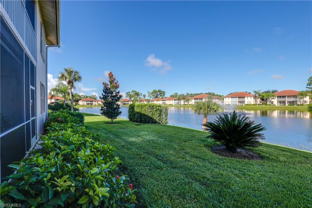
{"type": "Polygon", "coordinates": [[[0,0],[0,3],[10,17],[32,57],[36,60],[36,33],[32,28],[32,23],[28,17],[24,1],[0,0]]]}

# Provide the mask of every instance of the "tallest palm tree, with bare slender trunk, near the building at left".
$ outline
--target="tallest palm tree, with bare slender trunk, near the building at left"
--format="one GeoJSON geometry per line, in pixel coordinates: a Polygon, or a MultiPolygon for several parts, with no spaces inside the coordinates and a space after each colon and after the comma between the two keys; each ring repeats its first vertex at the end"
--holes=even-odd
{"type": "Polygon", "coordinates": [[[71,67],[64,68],[64,72],[60,72],[59,78],[60,81],[65,81],[68,85],[69,97],[71,100],[71,111],[74,111],[73,98],[72,98],[72,89],[75,89],[75,82],[81,81],[81,76],[78,71],[74,70],[71,67]]]}

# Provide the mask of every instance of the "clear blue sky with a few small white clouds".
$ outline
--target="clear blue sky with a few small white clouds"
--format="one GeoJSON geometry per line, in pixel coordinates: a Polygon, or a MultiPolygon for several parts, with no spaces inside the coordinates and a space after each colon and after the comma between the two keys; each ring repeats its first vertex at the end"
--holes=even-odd
{"type": "Polygon", "coordinates": [[[61,1],[61,48],[48,52],[49,88],[64,67],[76,92],[304,90],[312,67],[311,1],[61,1]]]}

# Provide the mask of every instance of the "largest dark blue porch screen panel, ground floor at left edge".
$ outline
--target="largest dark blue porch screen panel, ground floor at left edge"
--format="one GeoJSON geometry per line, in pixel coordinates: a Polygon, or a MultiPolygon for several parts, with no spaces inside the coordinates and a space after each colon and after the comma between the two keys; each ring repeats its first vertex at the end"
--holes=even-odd
{"type": "Polygon", "coordinates": [[[0,129],[3,133],[25,120],[24,50],[0,18],[0,129]]]}

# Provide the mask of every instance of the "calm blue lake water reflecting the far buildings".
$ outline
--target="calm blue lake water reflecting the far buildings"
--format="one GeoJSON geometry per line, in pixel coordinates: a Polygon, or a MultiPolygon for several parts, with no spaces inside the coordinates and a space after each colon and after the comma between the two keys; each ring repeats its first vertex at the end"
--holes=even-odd
{"type": "MultiPolygon", "coordinates": [[[[100,107],[81,107],[80,112],[100,114],[100,107]]],[[[128,107],[121,107],[120,118],[128,119],[128,107]]],[[[233,109],[224,109],[232,112],[233,109]]],[[[236,110],[246,114],[256,123],[266,127],[264,142],[289,146],[297,149],[312,151],[312,115],[307,111],[247,111],[236,110]]],[[[213,121],[215,115],[209,115],[208,121],[213,121]]],[[[202,116],[196,115],[191,108],[168,108],[168,122],[170,125],[183,126],[193,129],[202,128],[202,116]]]]}

